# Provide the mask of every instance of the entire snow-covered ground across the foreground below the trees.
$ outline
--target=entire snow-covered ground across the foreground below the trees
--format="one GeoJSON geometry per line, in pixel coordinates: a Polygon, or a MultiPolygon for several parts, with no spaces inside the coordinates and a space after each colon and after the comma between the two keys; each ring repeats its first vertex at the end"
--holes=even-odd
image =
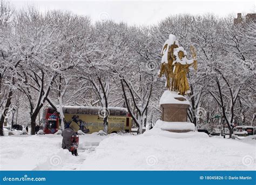
{"type": "Polygon", "coordinates": [[[1,170],[255,170],[255,139],[153,128],[142,135],[79,136],[78,154],[60,135],[0,137],[1,170]],[[99,146],[98,146],[99,145],[99,146]]]}

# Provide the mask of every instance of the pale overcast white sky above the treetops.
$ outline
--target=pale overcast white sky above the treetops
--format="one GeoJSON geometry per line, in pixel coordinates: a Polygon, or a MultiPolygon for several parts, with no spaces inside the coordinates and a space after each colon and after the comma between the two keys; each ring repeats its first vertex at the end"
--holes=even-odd
{"type": "MultiPolygon", "coordinates": [[[[8,1],[8,0],[5,0],[8,1]]],[[[170,15],[178,13],[191,13],[193,15],[214,13],[219,17],[228,14],[235,16],[238,12],[255,12],[256,1],[24,1],[9,0],[16,9],[26,5],[35,5],[41,11],[68,10],[78,15],[88,15],[94,21],[100,19],[112,19],[116,22],[126,22],[130,25],[156,24],[170,15]]]]}

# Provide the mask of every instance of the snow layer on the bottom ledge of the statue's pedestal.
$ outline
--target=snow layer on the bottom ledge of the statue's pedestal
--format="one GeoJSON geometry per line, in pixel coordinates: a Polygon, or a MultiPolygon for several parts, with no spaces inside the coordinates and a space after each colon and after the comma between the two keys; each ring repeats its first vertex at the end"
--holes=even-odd
{"type": "Polygon", "coordinates": [[[157,120],[154,128],[161,128],[164,130],[190,130],[194,131],[194,124],[192,122],[167,122],[157,120]]]}

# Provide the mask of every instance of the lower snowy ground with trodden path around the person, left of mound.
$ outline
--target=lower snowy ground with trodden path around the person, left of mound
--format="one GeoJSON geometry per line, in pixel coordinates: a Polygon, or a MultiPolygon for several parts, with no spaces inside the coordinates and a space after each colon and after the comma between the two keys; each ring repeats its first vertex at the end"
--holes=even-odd
{"type": "Polygon", "coordinates": [[[108,136],[79,135],[78,155],[61,147],[62,136],[11,135],[0,137],[0,170],[74,170],[108,136]]]}

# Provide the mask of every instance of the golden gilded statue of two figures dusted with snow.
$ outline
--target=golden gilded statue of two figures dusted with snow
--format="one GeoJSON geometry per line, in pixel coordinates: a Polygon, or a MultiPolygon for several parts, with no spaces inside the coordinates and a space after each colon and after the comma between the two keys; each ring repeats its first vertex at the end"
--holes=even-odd
{"type": "Polygon", "coordinates": [[[181,95],[190,93],[190,87],[187,80],[189,67],[193,66],[197,70],[196,50],[190,47],[193,59],[187,59],[187,52],[183,47],[179,47],[178,41],[174,35],[170,35],[166,40],[161,52],[162,60],[158,77],[165,74],[165,86],[171,91],[177,91],[181,95]],[[171,79],[171,84],[170,84],[171,79]]]}

